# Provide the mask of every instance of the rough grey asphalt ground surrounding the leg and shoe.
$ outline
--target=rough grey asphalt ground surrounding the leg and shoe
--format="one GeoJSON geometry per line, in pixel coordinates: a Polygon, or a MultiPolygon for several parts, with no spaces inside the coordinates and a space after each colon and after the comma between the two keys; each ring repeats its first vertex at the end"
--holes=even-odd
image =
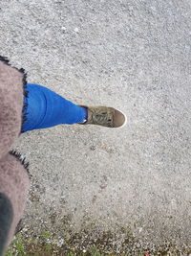
{"type": "Polygon", "coordinates": [[[121,251],[128,234],[132,255],[189,246],[191,2],[1,0],[0,32],[0,55],[28,81],[128,118],[122,129],[58,126],[18,139],[31,163],[28,236],[108,231],[121,251]]]}

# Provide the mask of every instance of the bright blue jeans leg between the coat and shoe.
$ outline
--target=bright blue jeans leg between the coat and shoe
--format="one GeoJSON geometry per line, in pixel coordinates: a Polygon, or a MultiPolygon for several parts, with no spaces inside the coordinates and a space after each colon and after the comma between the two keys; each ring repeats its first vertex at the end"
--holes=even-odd
{"type": "Polygon", "coordinates": [[[27,121],[22,126],[22,132],[63,124],[73,125],[87,119],[86,108],[74,105],[44,86],[28,83],[26,89],[29,92],[24,99],[27,121]]]}

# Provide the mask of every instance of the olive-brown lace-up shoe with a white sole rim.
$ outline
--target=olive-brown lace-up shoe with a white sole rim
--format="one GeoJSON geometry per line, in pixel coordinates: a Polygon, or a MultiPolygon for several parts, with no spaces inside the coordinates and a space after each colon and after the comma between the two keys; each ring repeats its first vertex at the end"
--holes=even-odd
{"type": "Polygon", "coordinates": [[[121,111],[107,106],[86,106],[88,120],[82,125],[97,125],[107,128],[122,128],[127,123],[126,115],[121,111]]]}

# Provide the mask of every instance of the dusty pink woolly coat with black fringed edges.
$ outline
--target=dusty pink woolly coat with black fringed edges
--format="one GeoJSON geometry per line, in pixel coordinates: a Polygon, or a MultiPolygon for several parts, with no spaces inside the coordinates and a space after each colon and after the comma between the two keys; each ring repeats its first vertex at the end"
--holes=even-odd
{"type": "Polygon", "coordinates": [[[11,243],[24,211],[30,178],[28,164],[11,146],[21,133],[26,75],[0,57],[0,255],[11,243]]]}

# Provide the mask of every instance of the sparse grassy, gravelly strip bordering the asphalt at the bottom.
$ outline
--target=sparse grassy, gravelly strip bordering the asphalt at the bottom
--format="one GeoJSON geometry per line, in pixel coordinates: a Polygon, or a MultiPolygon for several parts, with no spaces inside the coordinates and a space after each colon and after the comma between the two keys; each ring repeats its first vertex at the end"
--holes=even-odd
{"type": "MultiPolygon", "coordinates": [[[[64,238],[63,238],[64,239],[64,238]]],[[[111,238],[112,239],[112,238],[111,238]]],[[[81,240],[79,240],[80,242],[81,240]]],[[[115,251],[113,247],[106,246],[107,244],[101,244],[102,240],[98,244],[95,242],[91,244],[74,244],[74,241],[65,241],[65,243],[59,247],[53,244],[53,234],[45,231],[40,237],[25,238],[22,233],[17,234],[16,238],[12,241],[6,256],[130,256],[130,254],[112,253],[115,251]],[[84,249],[86,248],[86,249],[84,249]],[[105,252],[104,252],[105,251],[105,252]],[[111,253],[106,253],[111,252],[111,253]]],[[[129,250],[129,249],[128,249],[129,250]]],[[[127,251],[128,251],[127,250],[127,251]]],[[[148,250],[146,251],[148,252],[148,250]]],[[[189,253],[183,255],[190,256],[189,253]]],[[[145,250],[139,250],[136,256],[145,256],[145,250]]],[[[172,246],[168,249],[159,249],[155,256],[180,256],[182,253],[172,246]],[[171,251],[171,253],[169,252],[171,251]]]]}

